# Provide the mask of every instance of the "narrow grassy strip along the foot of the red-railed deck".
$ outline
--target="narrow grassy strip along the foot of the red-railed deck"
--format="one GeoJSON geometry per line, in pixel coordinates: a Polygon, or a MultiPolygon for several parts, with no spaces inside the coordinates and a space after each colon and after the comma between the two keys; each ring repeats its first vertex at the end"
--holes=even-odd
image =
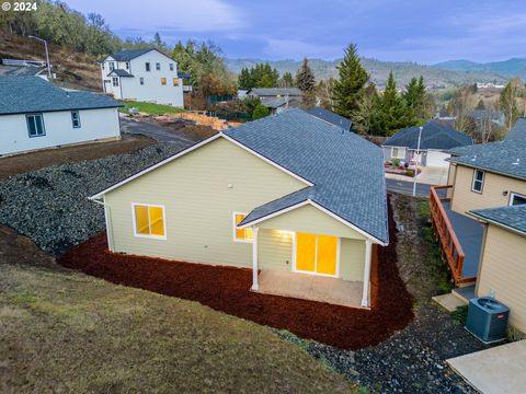
{"type": "Polygon", "coordinates": [[[419,202],[419,220],[422,223],[422,236],[427,248],[424,257],[424,264],[433,275],[434,281],[441,292],[450,292],[454,288],[451,275],[447,263],[442,258],[441,246],[435,239],[433,228],[430,225],[431,210],[428,200],[419,202]]]}

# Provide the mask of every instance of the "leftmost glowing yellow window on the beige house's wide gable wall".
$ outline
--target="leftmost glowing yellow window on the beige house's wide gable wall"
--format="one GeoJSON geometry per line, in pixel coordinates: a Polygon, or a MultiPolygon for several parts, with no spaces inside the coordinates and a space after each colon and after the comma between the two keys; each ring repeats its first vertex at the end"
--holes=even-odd
{"type": "Polygon", "coordinates": [[[134,234],[140,237],[167,239],[164,207],[149,204],[132,204],[134,234]]]}

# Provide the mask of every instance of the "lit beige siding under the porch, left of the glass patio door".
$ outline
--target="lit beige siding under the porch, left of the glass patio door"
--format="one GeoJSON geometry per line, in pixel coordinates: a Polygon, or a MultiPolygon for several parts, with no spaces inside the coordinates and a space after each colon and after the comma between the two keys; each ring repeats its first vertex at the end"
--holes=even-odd
{"type": "Polygon", "coordinates": [[[258,264],[260,269],[293,269],[294,233],[260,229],[258,233],[258,264]]]}

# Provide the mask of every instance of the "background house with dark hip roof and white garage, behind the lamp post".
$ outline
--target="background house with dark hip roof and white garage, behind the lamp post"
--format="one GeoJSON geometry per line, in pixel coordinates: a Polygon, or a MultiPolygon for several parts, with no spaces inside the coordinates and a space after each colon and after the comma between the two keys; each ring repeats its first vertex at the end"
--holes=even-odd
{"type": "MultiPolygon", "coordinates": [[[[416,148],[419,146],[419,126],[411,126],[399,130],[388,138],[381,146],[386,161],[399,159],[403,162],[416,162],[416,148]]],[[[419,165],[447,167],[445,159],[449,158],[447,151],[456,147],[473,144],[473,139],[451,127],[436,120],[423,125],[420,141],[421,158],[419,165]]]]}

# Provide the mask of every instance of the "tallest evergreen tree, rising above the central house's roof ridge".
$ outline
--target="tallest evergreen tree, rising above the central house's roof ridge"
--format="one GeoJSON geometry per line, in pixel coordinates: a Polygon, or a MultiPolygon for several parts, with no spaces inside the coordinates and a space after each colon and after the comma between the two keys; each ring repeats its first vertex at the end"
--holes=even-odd
{"type": "Polygon", "coordinates": [[[353,118],[359,108],[359,101],[369,76],[359,62],[356,45],[351,44],[345,49],[343,61],[338,66],[339,78],[331,90],[332,111],[346,118],[353,118]]]}

